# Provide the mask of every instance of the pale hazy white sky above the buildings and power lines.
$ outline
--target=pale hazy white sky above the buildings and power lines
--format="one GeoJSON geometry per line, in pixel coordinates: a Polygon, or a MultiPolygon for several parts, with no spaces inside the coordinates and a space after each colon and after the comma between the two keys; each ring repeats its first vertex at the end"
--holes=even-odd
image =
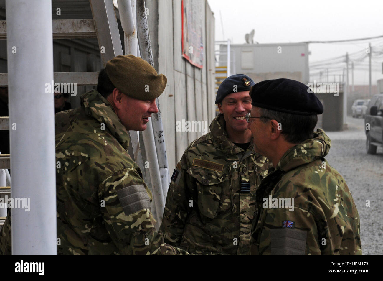
{"type": "MultiPolygon", "coordinates": [[[[234,44],[246,43],[245,34],[252,29],[255,29],[254,41],[259,43],[329,41],[383,35],[381,0],[208,0],[208,3],[215,17],[216,40],[229,38],[234,44]]],[[[383,38],[351,43],[311,43],[309,64],[342,56],[346,52],[356,53],[350,55],[350,61],[355,64],[355,85],[368,84],[368,58],[360,59],[366,54],[369,42],[375,47],[372,50],[379,52],[372,53],[372,84],[376,84],[377,79],[383,79],[383,38]]],[[[341,60],[338,59],[336,65],[310,69],[310,74],[324,71],[326,67],[330,67],[330,77],[341,74],[342,67],[345,67],[345,62],[341,60]]]]}

